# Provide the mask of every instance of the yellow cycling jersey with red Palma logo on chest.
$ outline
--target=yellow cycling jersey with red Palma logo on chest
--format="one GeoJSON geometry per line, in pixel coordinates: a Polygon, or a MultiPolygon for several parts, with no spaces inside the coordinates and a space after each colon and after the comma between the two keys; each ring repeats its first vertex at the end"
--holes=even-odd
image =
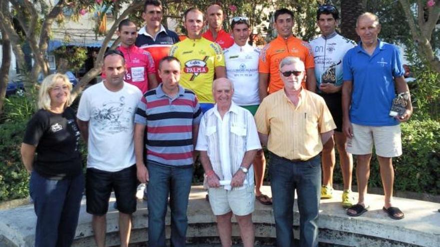
{"type": "Polygon", "coordinates": [[[224,66],[221,47],[205,38],[186,38],[173,44],[169,55],[180,60],[179,85],[192,90],[200,103],[214,103],[212,81],[215,67],[224,66]]]}

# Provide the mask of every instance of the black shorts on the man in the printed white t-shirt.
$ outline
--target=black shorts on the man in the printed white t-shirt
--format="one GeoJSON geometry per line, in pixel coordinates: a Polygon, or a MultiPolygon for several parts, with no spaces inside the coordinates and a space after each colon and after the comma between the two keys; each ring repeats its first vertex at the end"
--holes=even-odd
{"type": "Polygon", "coordinates": [[[105,215],[108,210],[108,199],[114,190],[117,208],[124,214],[136,211],[136,165],[117,172],[106,172],[87,168],[85,174],[85,198],[87,213],[105,215]]]}

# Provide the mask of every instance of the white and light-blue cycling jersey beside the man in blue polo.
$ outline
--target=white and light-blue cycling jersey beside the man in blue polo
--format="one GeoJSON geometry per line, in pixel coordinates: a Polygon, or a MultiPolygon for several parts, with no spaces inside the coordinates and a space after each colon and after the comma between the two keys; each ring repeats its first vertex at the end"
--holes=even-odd
{"type": "Polygon", "coordinates": [[[313,51],[316,86],[319,88],[321,83],[342,85],[342,60],[356,43],[336,32],[327,37],[321,35],[309,43],[313,51]]]}

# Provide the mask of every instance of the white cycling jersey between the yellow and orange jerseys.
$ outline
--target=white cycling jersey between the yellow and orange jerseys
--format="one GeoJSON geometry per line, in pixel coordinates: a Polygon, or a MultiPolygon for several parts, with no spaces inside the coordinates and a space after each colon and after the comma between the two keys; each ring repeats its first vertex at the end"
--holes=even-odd
{"type": "Polygon", "coordinates": [[[226,77],[234,86],[232,101],[237,105],[258,105],[258,49],[247,43],[234,43],[223,54],[226,77]]]}

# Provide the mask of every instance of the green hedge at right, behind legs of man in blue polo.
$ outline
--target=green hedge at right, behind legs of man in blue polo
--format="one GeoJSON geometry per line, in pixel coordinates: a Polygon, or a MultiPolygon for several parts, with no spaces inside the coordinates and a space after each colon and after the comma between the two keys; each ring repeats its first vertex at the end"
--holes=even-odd
{"type": "MultiPolygon", "coordinates": [[[[402,155],[392,160],[395,169],[394,189],[440,195],[440,123],[431,119],[410,120],[400,127],[402,155]]],[[[338,159],[336,164],[333,183],[342,184],[338,159]]],[[[354,185],[355,170],[354,164],[354,185]]],[[[371,158],[368,187],[382,188],[375,155],[371,158]]]]}

